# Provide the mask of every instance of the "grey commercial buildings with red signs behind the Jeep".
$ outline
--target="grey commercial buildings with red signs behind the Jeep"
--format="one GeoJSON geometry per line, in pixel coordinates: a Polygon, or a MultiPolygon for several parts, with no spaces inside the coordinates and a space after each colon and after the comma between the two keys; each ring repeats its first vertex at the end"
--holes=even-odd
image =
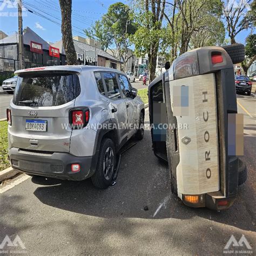
{"type": "MultiPolygon", "coordinates": [[[[99,43],[88,38],[75,38],[78,39],[73,40],[78,64],[100,65],[120,70],[121,62],[100,49],[99,43]]],[[[37,66],[66,65],[62,40],[49,44],[27,26],[23,30],[23,43],[26,69],[37,66]]],[[[14,72],[18,69],[18,61],[18,35],[15,33],[0,41],[0,72],[14,72]]]]}

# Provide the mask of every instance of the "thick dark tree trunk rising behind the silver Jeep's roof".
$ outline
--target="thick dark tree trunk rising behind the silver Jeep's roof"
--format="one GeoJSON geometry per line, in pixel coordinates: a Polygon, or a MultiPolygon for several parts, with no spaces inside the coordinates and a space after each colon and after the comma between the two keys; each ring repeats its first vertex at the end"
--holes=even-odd
{"type": "Polygon", "coordinates": [[[72,0],[59,0],[59,6],[62,13],[62,43],[66,53],[66,62],[68,65],[76,65],[77,58],[71,25],[72,0]]]}

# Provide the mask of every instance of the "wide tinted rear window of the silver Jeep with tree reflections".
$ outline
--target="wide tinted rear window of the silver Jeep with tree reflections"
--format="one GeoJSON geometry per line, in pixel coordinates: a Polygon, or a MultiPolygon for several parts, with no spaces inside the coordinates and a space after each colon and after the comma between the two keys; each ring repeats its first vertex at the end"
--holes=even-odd
{"type": "Polygon", "coordinates": [[[13,102],[17,106],[59,106],[80,94],[75,73],[35,73],[19,76],[13,102]]]}

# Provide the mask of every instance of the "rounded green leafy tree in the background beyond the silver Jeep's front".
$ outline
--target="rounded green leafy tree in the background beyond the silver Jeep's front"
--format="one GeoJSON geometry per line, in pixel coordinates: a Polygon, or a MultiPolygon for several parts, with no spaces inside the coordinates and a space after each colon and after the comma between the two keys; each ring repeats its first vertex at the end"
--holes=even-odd
{"type": "Polygon", "coordinates": [[[127,48],[131,46],[129,36],[137,29],[133,20],[134,15],[129,6],[118,2],[111,4],[102,19],[84,31],[87,36],[102,43],[104,50],[110,49],[112,45],[116,46],[116,50],[110,50],[117,59],[124,60],[125,69],[127,61],[132,57],[128,56],[127,48]]]}

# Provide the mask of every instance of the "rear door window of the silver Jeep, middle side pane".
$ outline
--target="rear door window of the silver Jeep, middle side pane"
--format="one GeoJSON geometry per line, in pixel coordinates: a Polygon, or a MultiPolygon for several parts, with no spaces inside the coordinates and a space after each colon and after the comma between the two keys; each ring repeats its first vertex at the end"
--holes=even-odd
{"type": "Polygon", "coordinates": [[[106,90],[107,94],[109,95],[110,99],[119,99],[120,96],[120,90],[117,83],[117,78],[115,73],[102,73],[105,84],[106,84],[106,90]]]}

